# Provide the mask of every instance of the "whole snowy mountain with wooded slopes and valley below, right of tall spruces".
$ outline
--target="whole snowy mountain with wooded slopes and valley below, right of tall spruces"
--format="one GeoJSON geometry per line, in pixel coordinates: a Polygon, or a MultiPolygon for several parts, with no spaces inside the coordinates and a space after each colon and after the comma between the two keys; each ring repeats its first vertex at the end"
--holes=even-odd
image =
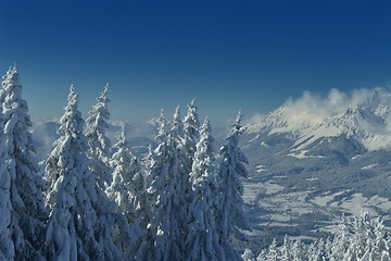
{"type": "Polygon", "coordinates": [[[289,100],[251,121],[242,139],[252,236],[325,236],[361,210],[391,227],[391,94],[332,90],[289,100]],[[274,189],[278,188],[278,189],[274,189]]]}

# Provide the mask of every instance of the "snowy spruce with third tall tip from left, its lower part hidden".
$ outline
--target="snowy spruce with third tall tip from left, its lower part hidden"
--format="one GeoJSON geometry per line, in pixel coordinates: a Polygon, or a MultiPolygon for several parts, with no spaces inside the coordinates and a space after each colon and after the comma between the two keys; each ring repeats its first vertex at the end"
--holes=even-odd
{"type": "Polygon", "coordinates": [[[91,160],[90,170],[96,174],[98,186],[105,189],[111,184],[112,175],[110,167],[110,139],[106,137],[105,132],[109,128],[108,121],[110,113],[108,103],[109,85],[104,86],[104,90],[97,99],[97,103],[89,111],[87,119],[87,145],[88,158],[91,160]]]}

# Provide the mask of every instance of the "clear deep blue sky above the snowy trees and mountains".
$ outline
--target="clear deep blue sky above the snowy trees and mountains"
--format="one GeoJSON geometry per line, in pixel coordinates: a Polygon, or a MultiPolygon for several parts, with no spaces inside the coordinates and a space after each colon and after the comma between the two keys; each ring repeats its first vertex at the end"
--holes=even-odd
{"type": "Polygon", "coordinates": [[[3,1],[0,70],[17,62],[34,117],[86,112],[110,83],[114,119],[268,112],[304,90],[391,79],[391,1],[3,1]]]}

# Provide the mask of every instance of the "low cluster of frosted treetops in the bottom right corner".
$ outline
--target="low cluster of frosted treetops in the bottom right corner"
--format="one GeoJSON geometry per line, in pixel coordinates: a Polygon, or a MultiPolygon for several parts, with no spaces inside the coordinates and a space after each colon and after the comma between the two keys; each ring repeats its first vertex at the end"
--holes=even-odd
{"type": "Polygon", "coordinates": [[[358,216],[343,216],[332,238],[304,244],[286,236],[281,246],[274,240],[257,256],[245,249],[242,258],[243,261],[390,261],[391,237],[380,217],[362,212],[358,216]]]}

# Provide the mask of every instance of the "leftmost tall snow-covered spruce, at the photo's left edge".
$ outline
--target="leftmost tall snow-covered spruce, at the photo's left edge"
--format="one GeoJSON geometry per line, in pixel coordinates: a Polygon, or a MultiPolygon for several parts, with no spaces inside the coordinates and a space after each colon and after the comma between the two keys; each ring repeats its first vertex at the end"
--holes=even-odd
{"type": "Polygon", "coordinates": [[[5,148],[9,153],[8,169],[11,175],[10,227],[15,259],[38,260],[42,259],[39,248],[47,220],[43,203],[45,182],[39,175],[28,107],[22,99],[22,85],[15,65],[3,76],[1,92],[5,148]]]}

